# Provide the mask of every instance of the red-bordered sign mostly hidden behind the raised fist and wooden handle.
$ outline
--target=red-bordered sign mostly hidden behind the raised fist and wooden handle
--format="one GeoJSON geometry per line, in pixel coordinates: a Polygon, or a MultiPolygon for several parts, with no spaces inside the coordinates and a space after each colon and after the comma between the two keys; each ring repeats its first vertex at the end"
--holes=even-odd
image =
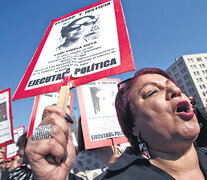
{"type": "MultiPolygon", "coordinates": [[[[57,104],[59,93],[48,93],[36,96],[30,118],[29,130],[27,138],[32,135],[33,130],[41,123],[43,111],[46,106],[54,106],[57,104]]],[[[74,93],[69,94],[68,108],[70,109],[70,116],[72,115],[74,93]]]]}

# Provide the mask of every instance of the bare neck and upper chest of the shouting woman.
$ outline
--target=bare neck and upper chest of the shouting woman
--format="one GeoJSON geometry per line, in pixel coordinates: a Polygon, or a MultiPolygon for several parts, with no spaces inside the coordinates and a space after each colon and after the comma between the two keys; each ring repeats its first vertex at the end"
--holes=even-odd
{"type": "Polygon", "coordinates": [[[194,145],[186,151],[169,153],[150,150],[150,163],[164,170],[176,179],[204,179],[194,145]],[[199,178],[196,178],[199,179],[199,178]]]}

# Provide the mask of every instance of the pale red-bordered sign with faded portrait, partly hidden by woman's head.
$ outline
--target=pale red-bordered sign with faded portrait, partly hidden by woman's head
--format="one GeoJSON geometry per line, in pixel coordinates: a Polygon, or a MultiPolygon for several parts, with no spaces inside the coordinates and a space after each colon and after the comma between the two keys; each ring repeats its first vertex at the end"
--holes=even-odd
{"type": "Polygon", "coordinates": [[[104,78],[76,88],[86,149],[128,141],[121,130],[115,110],[119,82],[119,79],[104,78]]]}

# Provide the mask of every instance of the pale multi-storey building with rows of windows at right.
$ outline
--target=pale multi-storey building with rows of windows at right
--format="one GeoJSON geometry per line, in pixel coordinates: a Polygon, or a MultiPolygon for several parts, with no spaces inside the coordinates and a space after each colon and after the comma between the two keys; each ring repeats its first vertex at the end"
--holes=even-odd
{"type": "Polygon", "coordinates": [[[186,95],[193,96],[197,108],[207,115],[207,53],[183,55],[166,72],[186,95]]]}

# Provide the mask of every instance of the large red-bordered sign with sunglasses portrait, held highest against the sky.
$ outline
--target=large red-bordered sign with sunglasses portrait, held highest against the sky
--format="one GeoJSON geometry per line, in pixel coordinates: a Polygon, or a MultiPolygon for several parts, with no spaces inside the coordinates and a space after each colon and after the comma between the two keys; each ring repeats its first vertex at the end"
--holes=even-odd
{"type": "Polygon", "coordinates": [[[134,70],[120,0],[102,0],[54,19],[13,100],[59,91],[66,73],[71,88],[134,70]]]}

